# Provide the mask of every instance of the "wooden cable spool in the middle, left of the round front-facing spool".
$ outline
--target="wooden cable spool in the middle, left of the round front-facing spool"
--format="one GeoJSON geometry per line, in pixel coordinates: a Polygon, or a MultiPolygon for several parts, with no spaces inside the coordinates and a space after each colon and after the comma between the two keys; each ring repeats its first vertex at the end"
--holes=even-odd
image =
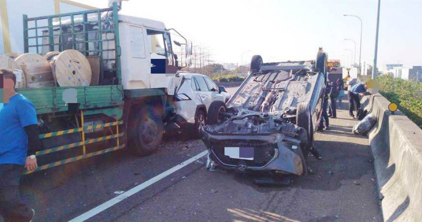
{"type": "Polygon", "coordinates": [[[34,53],[26,53],[19,55],[15,58],[15,61],[21,65],[25,73],[27,87],[39,88],[52,87],[55,85],[50,62],[43,56],[34,53]]]}

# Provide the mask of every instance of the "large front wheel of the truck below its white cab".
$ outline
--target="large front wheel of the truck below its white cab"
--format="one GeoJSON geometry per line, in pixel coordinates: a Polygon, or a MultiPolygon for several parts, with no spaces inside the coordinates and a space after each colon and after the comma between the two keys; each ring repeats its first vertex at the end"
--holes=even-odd
{"type": "Polygon", "coordinates": [[[130,148],[138,155],[154,153],[163,138],[163,121],[154,106],[147,105],[134,113],[129,128],[130,148]]]}

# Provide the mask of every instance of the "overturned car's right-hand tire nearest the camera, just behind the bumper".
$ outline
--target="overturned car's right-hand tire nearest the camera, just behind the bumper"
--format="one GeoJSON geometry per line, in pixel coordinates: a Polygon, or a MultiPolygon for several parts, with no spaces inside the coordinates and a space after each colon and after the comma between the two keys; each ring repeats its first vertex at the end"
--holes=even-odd
{"type": "Polygon", "coordinates": [[[313,145],[314,128],[312,127],[312,115],[308,103],[300,103],[296,112],[296,125],[302,127],[307,132],[306,148],[313,145]]]}

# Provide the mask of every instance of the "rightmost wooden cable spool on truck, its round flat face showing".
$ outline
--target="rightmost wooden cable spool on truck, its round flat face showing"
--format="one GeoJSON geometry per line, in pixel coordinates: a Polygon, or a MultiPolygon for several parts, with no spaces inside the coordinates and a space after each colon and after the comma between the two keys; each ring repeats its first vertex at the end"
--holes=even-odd
{"type": "Polygon", "coordinates": [[[69,49],[54,57],[56,79],[60,86],[90,85],[91,67],[85,55],[69,49]]]}

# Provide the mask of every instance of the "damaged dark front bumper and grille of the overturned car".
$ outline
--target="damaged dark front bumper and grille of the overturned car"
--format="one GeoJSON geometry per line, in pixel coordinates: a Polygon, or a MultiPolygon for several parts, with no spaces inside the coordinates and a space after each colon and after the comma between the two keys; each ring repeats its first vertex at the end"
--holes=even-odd
{"type": "MultiPolygon", "coordinates": [[[[206,168],[236,169],[241,172],[278,171],[306,175],[307,166],[299,139],[282,133],[273,134],[215,134],[201,129],[202,140],[207,146],[206,168]],[[248,157],[231,156],[227,150],[253,150],[248,157]],[[229,155],[229,156],[228,156],[229,155]]],[[[242,151],[240,151],[242,152],[242,151]]]]}

